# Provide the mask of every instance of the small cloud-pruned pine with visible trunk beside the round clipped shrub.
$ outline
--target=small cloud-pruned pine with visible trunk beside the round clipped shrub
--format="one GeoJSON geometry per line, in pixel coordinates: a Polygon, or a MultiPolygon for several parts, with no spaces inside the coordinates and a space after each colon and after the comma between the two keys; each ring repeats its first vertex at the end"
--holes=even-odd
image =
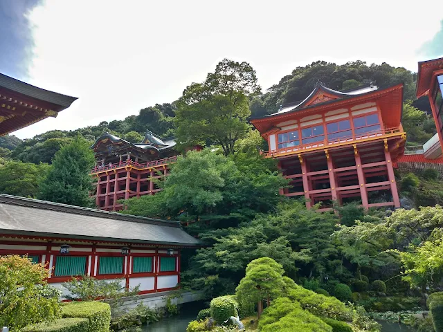
{"type": "Polygon", "coordinates": [[[258,318],[263,311],[263,300],[270,303],[282,295],[283,267],[269,257],[254,259],[246,266],[246,275],[236,289],[239,302],[256,302],[258,318]]]}

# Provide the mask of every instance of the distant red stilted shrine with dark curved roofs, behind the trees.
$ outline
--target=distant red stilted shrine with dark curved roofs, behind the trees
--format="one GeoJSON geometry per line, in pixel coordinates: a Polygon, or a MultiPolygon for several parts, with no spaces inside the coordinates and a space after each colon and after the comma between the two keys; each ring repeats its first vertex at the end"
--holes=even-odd
{"type": "Polygon", "coordinates": [[[123,209],[120,199],[153,195],[159,188],[153,179],[168,176],[168,165],[177,160],[174,138],[162,140],[147,131],[142,142],[134,144],[110,133],[103,133],[92,145],[97,165],[96,205],[100,210],[123,209]]]}

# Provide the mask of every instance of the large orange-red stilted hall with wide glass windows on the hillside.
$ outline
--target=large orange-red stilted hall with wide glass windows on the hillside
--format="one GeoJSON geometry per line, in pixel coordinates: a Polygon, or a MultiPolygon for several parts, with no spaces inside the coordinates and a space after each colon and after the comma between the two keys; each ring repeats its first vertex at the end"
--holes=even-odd
{"type": "Polygon", "coordinates": [[[403,84],[378,89],[368,84],[334,91],[318,82],[305,100],[251,120],[269,144],[290,187],[320,211],[350,200],[364,208],[399,208],[392,164],[404,153],[401,127],[403,84]]]}

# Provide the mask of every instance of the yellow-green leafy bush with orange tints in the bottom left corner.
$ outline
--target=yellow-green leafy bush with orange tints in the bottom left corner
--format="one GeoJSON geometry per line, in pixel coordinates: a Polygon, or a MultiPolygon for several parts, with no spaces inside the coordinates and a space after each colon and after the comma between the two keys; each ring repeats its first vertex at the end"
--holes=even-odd
{"type": "Polygon", "coordinates": [[[26,257],[0,257],[0,326],[19,331],[60,317],[59,293],[48,289],[47,275],[42,264],[32,264],[26,257]]]}

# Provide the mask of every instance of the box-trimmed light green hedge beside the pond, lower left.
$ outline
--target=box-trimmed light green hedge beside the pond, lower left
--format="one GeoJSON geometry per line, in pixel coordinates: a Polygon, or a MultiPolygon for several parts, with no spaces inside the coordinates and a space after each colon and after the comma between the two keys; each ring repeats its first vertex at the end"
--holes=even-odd
{"type": "Polygon", "coordinates": [[[69,302],[62,308],[64,318],[87,318],[87,332],[108,332],[111,323],[111,307],[103,302],[69,302]]]}

